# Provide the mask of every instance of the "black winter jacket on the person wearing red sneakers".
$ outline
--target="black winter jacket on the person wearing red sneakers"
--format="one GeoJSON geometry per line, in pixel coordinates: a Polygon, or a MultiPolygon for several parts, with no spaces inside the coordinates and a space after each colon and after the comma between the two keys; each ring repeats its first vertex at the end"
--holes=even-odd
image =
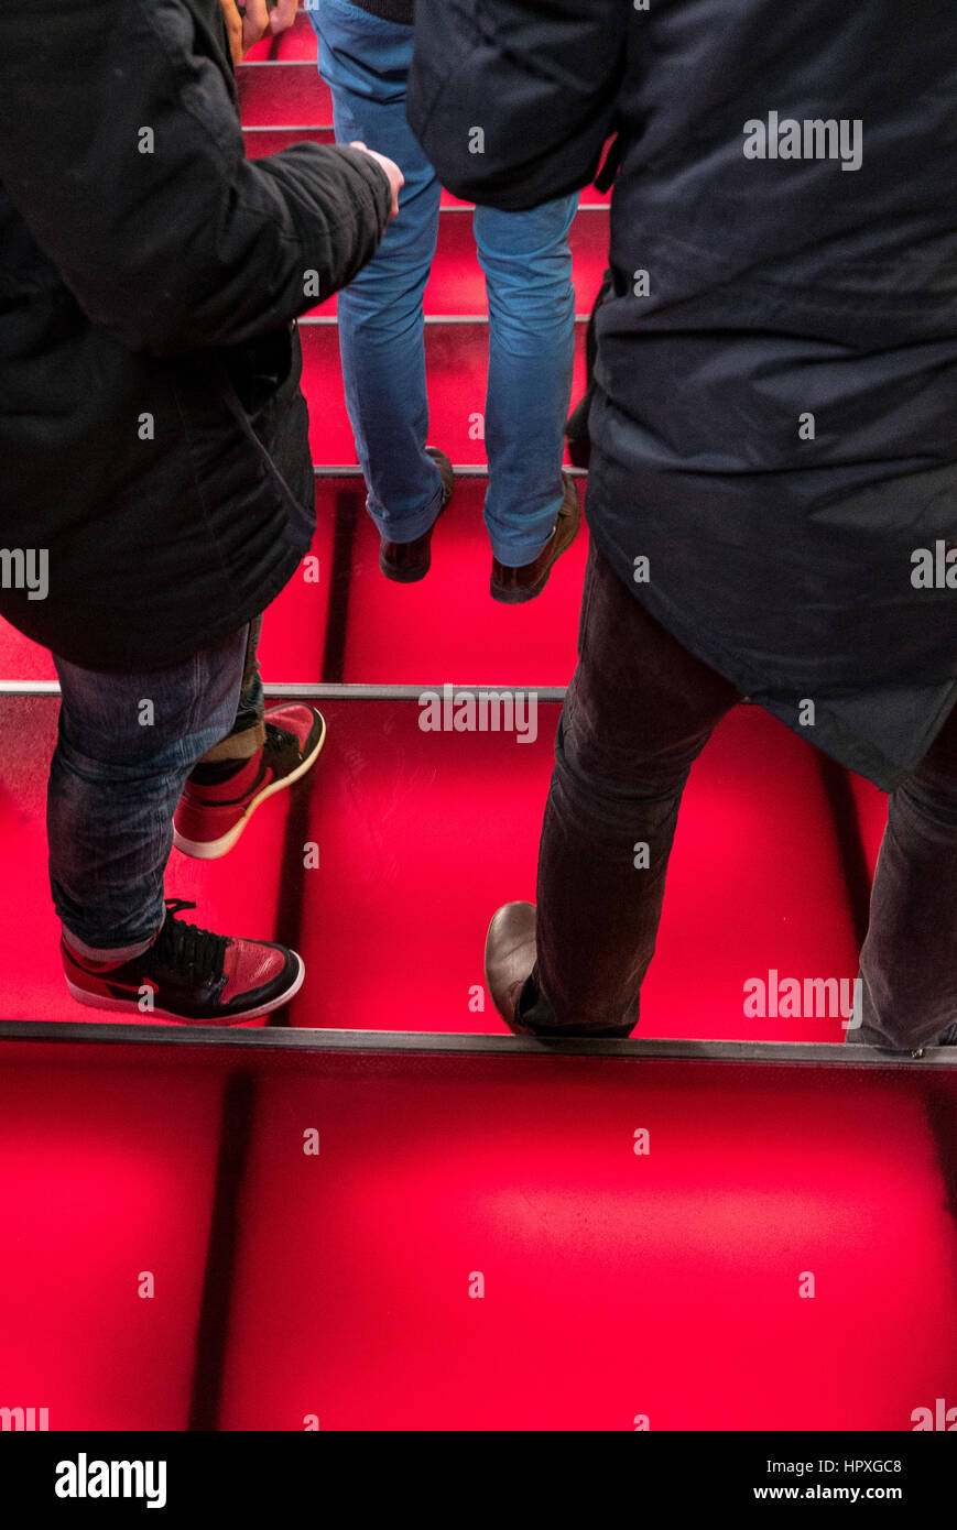
{"type": "Polygon", "coordinates": [[[247,162],[219,0],[0,8],[3,617],[133,672],[269,603],[314,523],[292,321],[387,211],[360,151],[247,162]]]}

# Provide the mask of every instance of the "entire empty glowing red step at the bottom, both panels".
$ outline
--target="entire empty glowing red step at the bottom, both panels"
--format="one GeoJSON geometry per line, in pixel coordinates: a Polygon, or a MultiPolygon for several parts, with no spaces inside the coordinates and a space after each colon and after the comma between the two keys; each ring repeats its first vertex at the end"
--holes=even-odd
{"type": "Polygon", "coordinates": [[[957,1397],[954,1069],[14,1040],[3,1063],[0,1406],[52,1431],[187,1426],[213,1247],[213,1429],[910,1432],[957,1397]]]}

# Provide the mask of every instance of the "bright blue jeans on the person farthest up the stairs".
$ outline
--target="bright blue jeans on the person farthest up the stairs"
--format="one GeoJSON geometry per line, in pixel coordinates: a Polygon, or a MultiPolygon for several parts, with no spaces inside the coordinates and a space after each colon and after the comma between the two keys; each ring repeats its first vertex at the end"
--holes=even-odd
{"type": "MultiPolygon", "coordinates": [[[[441,187],[406,121],[412,28],[322,0],[309,11],[318,72],[332,90],[337,142],[361,139],[406,177],[398,217],[374,260],[338,294],[346,407],[389,542],[415,542],[439,508],[426,456],[429,398],[423,294],[438,239],[441,187]]],[[[563,428],[574,364],[568,230],[577,196],[530,213],[476,208],[473,230],[488,292],[485,525],[511,568],[539,555],[562,503],[563,428]]]]}

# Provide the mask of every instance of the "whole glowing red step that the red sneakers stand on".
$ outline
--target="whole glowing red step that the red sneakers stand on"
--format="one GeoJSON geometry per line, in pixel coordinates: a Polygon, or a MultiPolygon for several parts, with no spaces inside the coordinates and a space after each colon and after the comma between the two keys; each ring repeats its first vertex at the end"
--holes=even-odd
{"type": "MultiPolygon", "coordinates": [[[[15,898],[0,924],[0,1013],[115,1022],[73,1004],[60,967],[44,828],[55,711],[52,698],[0,701],[0,855],[15,898]]],[[[296,1025],[501,1031],[481,993],[485,929],[499,903],[534,898],[557,705],[537,707],[530,744],[423,733],[415,702],[322,711],[329,739],[311,776],[265,803],[222,860],[175,851],[167,895],[196,900],[190,918],[207,929],[299,946],[296,1025]],[[320,866],[306,871],[312,845],[320,866]]],[[[640,1034],[841,1040],[839,1017],[747,1019],[743,985],[769,968],[851,978],[856,952],[813,751],[740,708],[692,773],[640,1034]]]]}

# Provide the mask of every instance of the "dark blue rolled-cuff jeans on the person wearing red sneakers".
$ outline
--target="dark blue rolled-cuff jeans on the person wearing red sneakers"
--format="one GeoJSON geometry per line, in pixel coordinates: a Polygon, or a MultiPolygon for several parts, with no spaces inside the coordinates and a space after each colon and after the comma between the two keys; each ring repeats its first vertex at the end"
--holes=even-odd
{"type": "Polygon", "coordinates": [[[248,759],[262,744],[257,633],[254,621],[150,675],[54,655],[63,704],[46,806],[51,890],[78,955],[129,961],[162,926],[187,776],[201,759],[248,759]]]}

